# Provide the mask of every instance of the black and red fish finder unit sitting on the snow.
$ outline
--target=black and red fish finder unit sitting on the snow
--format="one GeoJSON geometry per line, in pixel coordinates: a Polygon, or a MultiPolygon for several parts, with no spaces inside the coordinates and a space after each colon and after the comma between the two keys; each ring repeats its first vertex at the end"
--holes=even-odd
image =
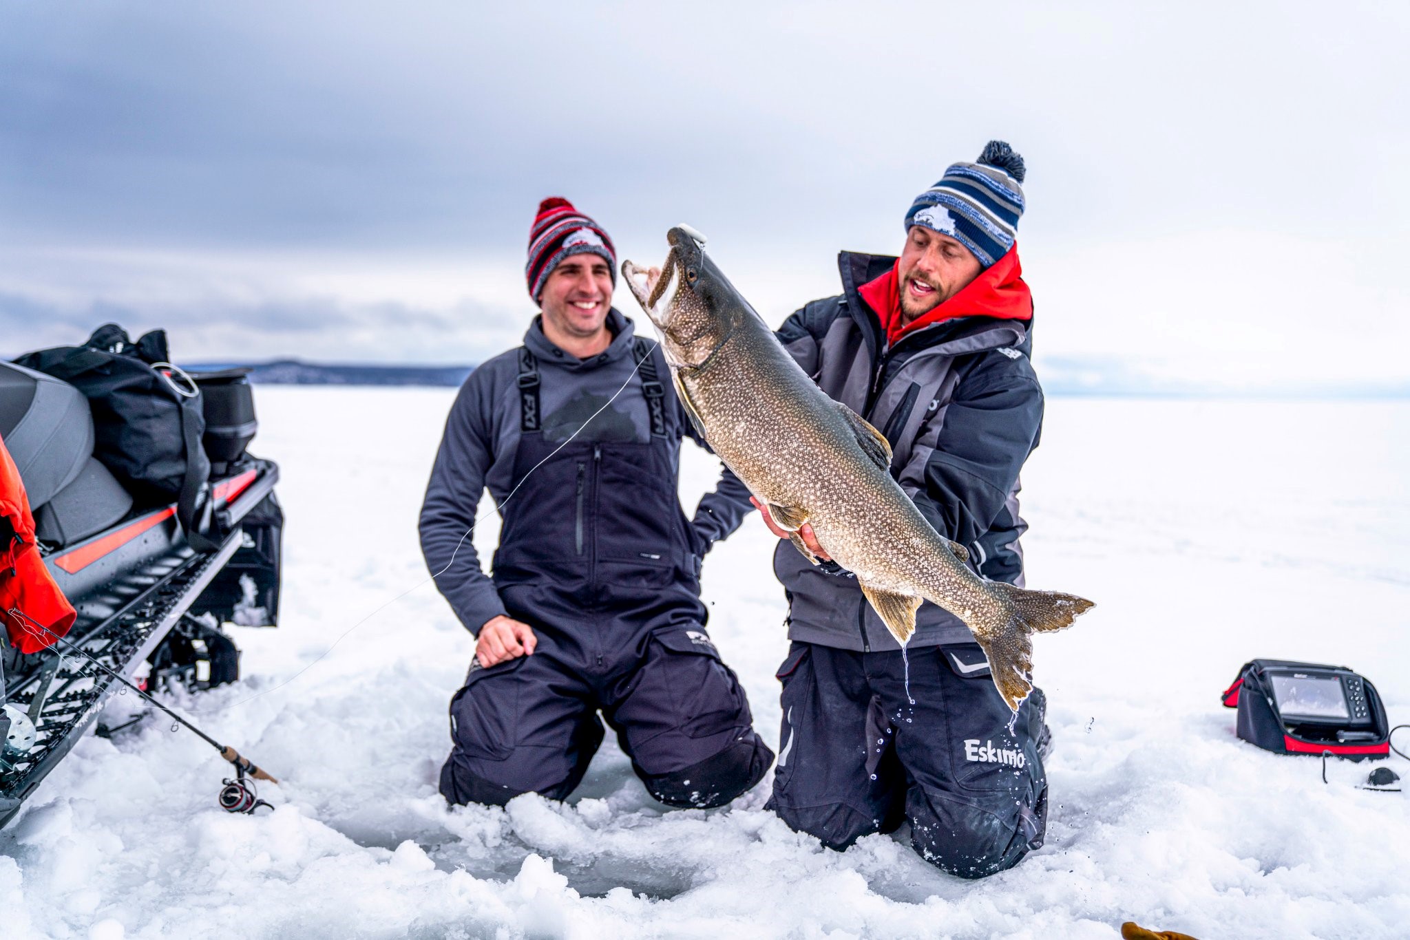
{"type": "Polygon", "coordinates": [[[1268,751],[1354,761],[1390,753],[1390,722],[1376,686],[1347,667],[1253,660],[1222,698],[1225,707],[1238,709],[1238,736],[1268,751]]]}

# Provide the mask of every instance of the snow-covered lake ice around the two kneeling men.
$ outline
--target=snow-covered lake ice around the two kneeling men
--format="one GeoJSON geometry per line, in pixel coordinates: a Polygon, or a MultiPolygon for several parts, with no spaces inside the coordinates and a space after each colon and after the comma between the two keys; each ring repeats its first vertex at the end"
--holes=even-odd
{"type": "MultiPolygon", "coordinates": [[[[447,810],[471,641],[426,582],[416,513],[451,392],[257,396],[254,450],[283,468],[282,626],[234,627],[244,681],[185,705],[283,781],[261,789],[275,809],[217,809],[228,765],[169,722],[90,734],[0,831],[0,936],[1410,936],[1410,795],[1355,789],[1366,765],[1324,785],[1218,705],[1249,658],[1331,661],[1410,722],[1410,403],[1049,400],[1028,579],[1098,607],[1036,641],[1048,844],[966,882],[890,836],[821,848],[763,810],[768,778],[664,810],[611,743],[567,805],[447,810]]],[[[712,464],[687,445],[688,509],[712,464]]],[[[777,743],[771,545],[750,520],[705,592],[777,743]]]]}

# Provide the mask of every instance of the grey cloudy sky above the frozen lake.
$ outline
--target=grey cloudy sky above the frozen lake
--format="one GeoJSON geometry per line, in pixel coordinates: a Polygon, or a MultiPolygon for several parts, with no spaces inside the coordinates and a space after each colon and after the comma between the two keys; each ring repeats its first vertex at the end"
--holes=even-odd
{"type": "Polygon", "coordinates": [[[477,361],[548,194],[777,321],[998,137],[1041,372],[1410,386],[1407,10],[0,0],[0,352],[477,361]]]}

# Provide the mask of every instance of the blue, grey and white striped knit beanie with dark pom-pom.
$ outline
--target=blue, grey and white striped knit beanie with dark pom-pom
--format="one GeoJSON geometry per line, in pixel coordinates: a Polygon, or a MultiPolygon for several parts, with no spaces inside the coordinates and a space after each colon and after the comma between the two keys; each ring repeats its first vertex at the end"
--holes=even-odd
{"type": "Polygon", "coordinates": [[[969,248],[988,268],[1014,247],[1024,214],[1024,158],[990,141],[976,163],[952,163],[940,182],[915,197],[905,230],[925,225],[969,248]]]}

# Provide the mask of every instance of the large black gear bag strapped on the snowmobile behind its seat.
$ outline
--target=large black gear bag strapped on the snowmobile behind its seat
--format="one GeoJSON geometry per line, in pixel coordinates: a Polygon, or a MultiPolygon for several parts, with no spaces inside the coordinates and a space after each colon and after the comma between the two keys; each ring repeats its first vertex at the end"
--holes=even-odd
{"type": "Polygon", "coordinates": [[[140,503],[175,499],[192,548],[216,548],[200,389],[171,364],[165,330],[133,342],[107,323],[80,347],[28,352],[16,364],[76,386],[93,410],[93,457],[140,503]]]}

